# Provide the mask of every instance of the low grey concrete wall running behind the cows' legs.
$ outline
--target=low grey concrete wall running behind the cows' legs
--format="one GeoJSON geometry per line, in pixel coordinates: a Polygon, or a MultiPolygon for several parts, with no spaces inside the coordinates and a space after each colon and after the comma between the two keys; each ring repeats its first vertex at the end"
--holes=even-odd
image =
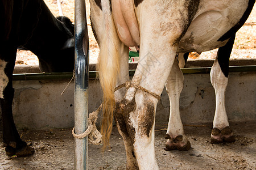
{"type": "MultiPolygon", "coordinates": [[[[18,128],[44,129],[73,126],[73,82],[60,95],[69,80],[14,81],[13,113],[18,128]]],[[[230,73],[226,91],[229,120],[256,120],[256,73],[230,73]]],[[[100,84],[89,81],[89,113],[101,103],[100,84]]],[[[180,97],[184,124],[212,122],[215,97],[209,74],[184,75],[184,90],[180,97]]],[[[158,102],[156,124],[167,124],[170,104],[166,91],[158,102]]],[[[101,116],[99,116],[101,118],[101,116]]],[[[100,121],[99,118],[99,121],[100,121]]]]}

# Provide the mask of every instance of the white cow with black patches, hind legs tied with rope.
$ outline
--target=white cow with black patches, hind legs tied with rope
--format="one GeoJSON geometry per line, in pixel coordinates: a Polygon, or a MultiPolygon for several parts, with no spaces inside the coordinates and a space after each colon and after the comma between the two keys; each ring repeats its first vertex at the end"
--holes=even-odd
{"type": "Polygon", "coordinates": [[[238,29],[255,0],[90,0],[94,35],[100,45],[98,71],[103,90],[101,133],[108,146],[113,119],[121,134],[127,169],[159,169],[154,152],[156,104],[166,87],[170,120],[166,150],[189,150],[179,111],[183,74],[176,53],[218,48],[210,71],[216,94],[212,143],[233,142],[225,111],[229,57],[238,29]],[[129,46],[139,47],[139,62],[129,79],[129,46]],[[123,83],[125,83],[125,88],[123,83]],[[115,91],[117,90],[117,91],[115,91]],[[115,91],[115,92],[114,92],[115,91]]]}

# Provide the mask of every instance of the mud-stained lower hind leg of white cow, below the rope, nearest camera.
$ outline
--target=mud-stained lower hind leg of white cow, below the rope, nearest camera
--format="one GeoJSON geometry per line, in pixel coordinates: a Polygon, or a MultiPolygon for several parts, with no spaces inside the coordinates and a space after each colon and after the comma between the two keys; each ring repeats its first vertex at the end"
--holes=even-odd
{"type": "Polygon", "coordinates": [[[126,127],[133,143],[139,169],[158,169],[154,148],[155,99],[150,94],[138,90],[131,101],[123,100],[128,109],[126,127]]]}

